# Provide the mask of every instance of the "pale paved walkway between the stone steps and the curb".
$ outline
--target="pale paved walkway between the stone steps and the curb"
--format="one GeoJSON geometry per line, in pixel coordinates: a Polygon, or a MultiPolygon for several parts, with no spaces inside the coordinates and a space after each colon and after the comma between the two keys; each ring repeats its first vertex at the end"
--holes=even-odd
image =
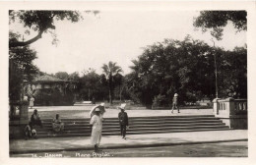
{"type": "MultiPolygon", "coordinates": [[[[127,139],[118,136],[102,137],[100,147],[132,148],[146,146],[167,146],[181,144],[214,143],[223,141],[246,141],[246,130],[191,132],[151,135],[128,135],[127,139]]],[[[74,150],[93,150],[88,137],[78,138],[40,138],[40,139],[16,139],[10,140],[10,153],[36,153],[74,150]]]]}

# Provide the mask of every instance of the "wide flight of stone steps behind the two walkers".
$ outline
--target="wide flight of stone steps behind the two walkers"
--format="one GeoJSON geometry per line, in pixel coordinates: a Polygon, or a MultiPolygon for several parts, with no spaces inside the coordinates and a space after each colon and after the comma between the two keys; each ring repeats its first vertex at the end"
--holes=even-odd
{"type": "MultiPolygon", "coordinates": [[[[53,134],[51,121],[51,119],[44,119],[44,127],[36,128],[38,138],[91,136],[90,119],[62,119],[65,129],[59,134],[53,134]]],[[[129,127],[127,135],[228,130],[228,127],[214,115],[130,117],[129,127]]],[[[120,135],[118,119],[105,118],[102,136],[118,135],[120,135]]]]}

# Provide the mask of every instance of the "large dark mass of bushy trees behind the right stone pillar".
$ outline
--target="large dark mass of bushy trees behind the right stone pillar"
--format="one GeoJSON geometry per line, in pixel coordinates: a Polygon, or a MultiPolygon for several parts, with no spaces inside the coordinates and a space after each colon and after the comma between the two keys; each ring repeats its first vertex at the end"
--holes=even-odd
{"type": "Polygon", "coordinates": [[[132,97],[149,106],[153,102],[161,104],[160,98],[170,102],[175,92],[179,93],[180,102],[195,102],[204,97],[213,99],[216,90],[215,55],[220,77],[218,84],[222,91],[220,96],[246,97],[246,49],[224,51],[190,36],[183,41],[165,39],[146,47],[138,60],[133,61],[133,72],[127,76],[127,88],[132,97]]]}

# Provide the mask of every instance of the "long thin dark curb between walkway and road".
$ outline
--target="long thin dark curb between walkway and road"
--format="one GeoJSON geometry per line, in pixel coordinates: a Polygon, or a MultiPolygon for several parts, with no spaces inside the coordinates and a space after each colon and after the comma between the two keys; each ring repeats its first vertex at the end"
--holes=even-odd
{"type": "MultiPolygon", "coordinates": [[[[203,144],[203,143],[220,143],[232,141],[248,141],[248,138],[241,139],[224,139],[224,140],[210,140],[210,141],[194,141],[194,142],[170,142],[170,143],[145,143],[136,145],[110,145],[101,146],[100,149],[117,149],[117,148],[139,148],[139,147],[157,147],[157,146],[175,146],[175,145],[189,145],[189,144],[203,144]]],[[[26,153],[40,153],[40,152],[61,152],[61,151],[79,151],[79,150],[94,150],[94,147],[80,147],[80,148],[62,148],[62,149],[44,149],[44,150],[11,150],[9,154],[26,154],[26,153]]]]}

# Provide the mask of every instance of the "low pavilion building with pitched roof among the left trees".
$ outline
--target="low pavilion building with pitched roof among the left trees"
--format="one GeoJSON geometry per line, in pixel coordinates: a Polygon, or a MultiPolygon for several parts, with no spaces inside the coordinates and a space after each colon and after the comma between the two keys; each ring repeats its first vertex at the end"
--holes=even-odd
{"type": "Polygon", "coordinates": [[[76,101],[77,85],[44,75],[32,82],[24,82],[24,95],[34,98],[34,105],[73,105],[76,101]]]}

